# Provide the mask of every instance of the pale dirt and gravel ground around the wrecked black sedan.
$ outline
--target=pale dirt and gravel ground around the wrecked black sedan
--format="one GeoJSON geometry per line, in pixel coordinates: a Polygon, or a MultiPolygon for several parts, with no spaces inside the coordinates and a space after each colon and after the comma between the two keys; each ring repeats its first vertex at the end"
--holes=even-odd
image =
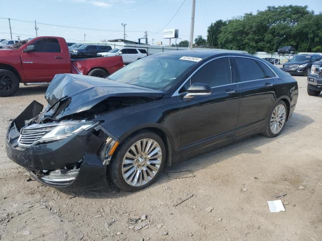
{"type": "Polygon", "coordinates": [[[45,103],[46,88],[22,86],[0,99],[0,239],[322,240],[322,95],[308,96],[306,77],[295,78],[298,103],[278,138],[258,135],[188,160],[170,170],[194,177],[164,172],[136,193],[61,192],[9,160],[10,120],[33,99],[45,103]],[[286,211],[270,213],[267,201],[277,199],[286,211]]]}

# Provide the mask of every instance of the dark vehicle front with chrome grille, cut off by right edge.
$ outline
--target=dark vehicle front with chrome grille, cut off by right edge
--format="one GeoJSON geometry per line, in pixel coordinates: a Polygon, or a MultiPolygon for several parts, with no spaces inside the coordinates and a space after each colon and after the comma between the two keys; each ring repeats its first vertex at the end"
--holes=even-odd
{"type": "Polygon", "coordinates": [[[317,96],[322,91],[322,60],[314,62],[307,77],[308,95],[317,96]]]}

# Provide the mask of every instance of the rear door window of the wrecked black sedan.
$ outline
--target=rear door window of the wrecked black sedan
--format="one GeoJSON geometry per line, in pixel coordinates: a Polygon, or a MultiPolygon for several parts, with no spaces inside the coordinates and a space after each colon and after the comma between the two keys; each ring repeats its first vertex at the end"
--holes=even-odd
{"type": "Polygon", "coordinates": [[[265,78],[264,71],[255,60],[248,58],[235,59],[241,82],[265,78]]]}

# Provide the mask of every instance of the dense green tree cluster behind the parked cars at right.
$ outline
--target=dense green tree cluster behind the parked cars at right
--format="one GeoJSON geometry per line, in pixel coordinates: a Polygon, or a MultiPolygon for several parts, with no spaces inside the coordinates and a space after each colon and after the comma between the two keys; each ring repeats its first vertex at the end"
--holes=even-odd
{"type": "Polygon", "coordinates": [[[268,6],[256,14],[216,21],[208,27],[207,41],[217,48],[250,53],[275,52],[282,46],[292,46],[299,52],[320,52],[321,30],[322,13],[315,14],[307,6],[268,6]]]}

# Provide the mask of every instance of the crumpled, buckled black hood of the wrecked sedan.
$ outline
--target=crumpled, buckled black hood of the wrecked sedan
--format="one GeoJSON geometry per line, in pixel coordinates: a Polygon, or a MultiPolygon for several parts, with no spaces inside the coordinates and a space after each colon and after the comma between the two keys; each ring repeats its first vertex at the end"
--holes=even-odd
{"type": "Polygon", "coordinates": [[[113,80],[78,74],[56,74],[51,81],[45,98],[53,105],[60,98],[69,101],[55,118],[89,110],[111,96],[162,97],[164,92],[125,84],[113,80]]]}

